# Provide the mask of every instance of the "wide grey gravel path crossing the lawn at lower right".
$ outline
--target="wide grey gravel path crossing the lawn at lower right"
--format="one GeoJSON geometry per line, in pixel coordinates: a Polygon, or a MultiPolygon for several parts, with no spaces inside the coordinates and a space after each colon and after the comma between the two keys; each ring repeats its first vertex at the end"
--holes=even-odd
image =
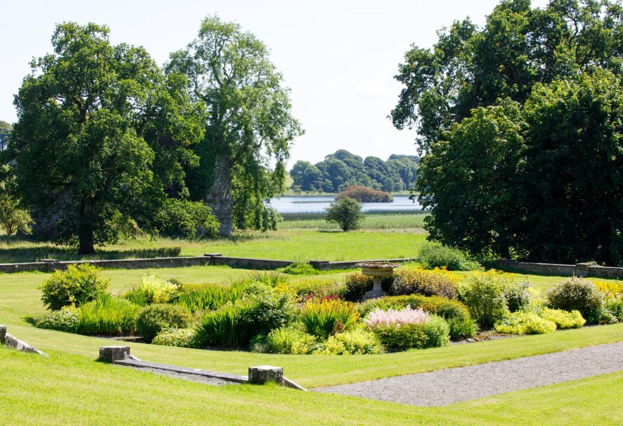
{"type": "Polygon", "coordinates": [[[623,343],[387,377],[313,391],[410,405],[446,405],[616,371],[623,371],[623,343]]]}

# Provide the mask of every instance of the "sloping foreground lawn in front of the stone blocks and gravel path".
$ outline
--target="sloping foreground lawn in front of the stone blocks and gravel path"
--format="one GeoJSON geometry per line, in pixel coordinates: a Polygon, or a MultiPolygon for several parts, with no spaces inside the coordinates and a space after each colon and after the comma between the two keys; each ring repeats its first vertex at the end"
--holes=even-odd
{"type": "Polygon", "coordinates": [[[623,416],[621,372],[446,407],[411,407],[277,386],[211,387],[50,354],[0,348],[2,423],[617,424],[623,416]]]}

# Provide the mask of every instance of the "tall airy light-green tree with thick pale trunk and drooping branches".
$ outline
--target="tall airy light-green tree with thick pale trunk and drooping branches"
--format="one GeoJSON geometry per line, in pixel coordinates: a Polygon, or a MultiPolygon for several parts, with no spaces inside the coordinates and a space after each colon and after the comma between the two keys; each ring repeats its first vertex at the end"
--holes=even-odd
{"type": "Polygon", "coordinates": [[[201,163],[189,172],[191,195],[212,208],[222,235],[231,234],[234,219],[265,228],[270,197],[283,189],[290,143],[302,134],[266,45],[209,16],[188,49],[171,54],[166,70],[188,75],[189,93],[209,112],[195,148],[201,163]]]}

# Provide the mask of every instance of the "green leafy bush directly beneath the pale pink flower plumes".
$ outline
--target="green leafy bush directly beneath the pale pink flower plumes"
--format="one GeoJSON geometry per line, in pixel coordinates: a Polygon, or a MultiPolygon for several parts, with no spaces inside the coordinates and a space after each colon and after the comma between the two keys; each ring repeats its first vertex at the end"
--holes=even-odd
{"type": "Polygon", "coordinates": [[[437,348],[450,343],[448,323],[437,315],[430,315],[427,323],[375,326],[373,331],[386,348],[394,351],[437,348]]]}

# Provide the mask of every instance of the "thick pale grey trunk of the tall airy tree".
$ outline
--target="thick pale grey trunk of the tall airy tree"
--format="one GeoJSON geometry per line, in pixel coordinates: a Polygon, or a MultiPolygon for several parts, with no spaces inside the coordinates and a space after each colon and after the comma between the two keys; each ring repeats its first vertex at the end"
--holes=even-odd
{"type": "Polygon", "coordinates": [[[232,172],[227,157],[216,159],[214,184],[207,192],[206,206],[212,209],[212,214],[221,224],[219,234],[230,235],[234,230],[234,203],[232,200],[232,172]]]}

